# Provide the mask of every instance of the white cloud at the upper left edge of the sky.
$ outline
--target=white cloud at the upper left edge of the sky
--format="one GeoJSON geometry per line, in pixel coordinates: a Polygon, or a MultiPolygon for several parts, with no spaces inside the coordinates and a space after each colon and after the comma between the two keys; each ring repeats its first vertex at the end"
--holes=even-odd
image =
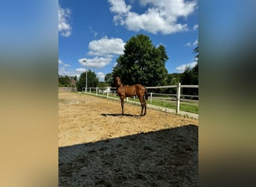
{"type": "Polygon", "coordinates": [[[58,32],[61,36],[69,37],[71,35],[72,28],[68,19],[70,19],[71,10],[68,8],[62,8],[58,4],[58,32]]]}

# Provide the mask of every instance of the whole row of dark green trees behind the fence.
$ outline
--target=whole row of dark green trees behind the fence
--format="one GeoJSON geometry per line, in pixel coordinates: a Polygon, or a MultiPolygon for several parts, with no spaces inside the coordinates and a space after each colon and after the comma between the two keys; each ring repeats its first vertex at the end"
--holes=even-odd
{"type": "MultiPolygon", "coordinates": [[[[198,46],[193,49],[195,61],[198,61],[198,46]]],[[[184,73],[171,73],[165,68],[168,61],[165,46],[153,46],[149,37],[138,34],[131,37],[124,46],[124,54],[117,59],[117,64],[112,73],[107,73],[105,82],[99,82],[97,75],[88,70],[87,87],[115,87],[114,79],[120,76],[124,85],[134,85],[140,83],[145,86],[163,85],[198,85],[198,64],[195,67],[186,67],[184,73]]],[[[82,91],[86,86],[86,73],[82,73],[77,79],[76,76],[59,76],[59,86],[74,86],[77,91],[82,91]]],[[[176,89],[157,89],[158,93],[176,93],[176,89]]],[[[183,94],[198,95],[198,88],[183,88],[183,94]]]]}

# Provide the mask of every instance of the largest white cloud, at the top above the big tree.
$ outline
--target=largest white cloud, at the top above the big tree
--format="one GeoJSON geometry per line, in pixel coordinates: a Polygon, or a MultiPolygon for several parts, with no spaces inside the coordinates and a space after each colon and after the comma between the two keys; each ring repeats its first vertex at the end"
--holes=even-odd
{"type": "Polygon", "coordinates": [[[188,31],[186,24],[177,22],[179,17],[186,18],[196,8],[196,1],[184,0],[140,0],[142,6],[150,7],[144,13],[130,11],[131,6],[124,0],[109,0],[109,10],[115,13],[116,25],[125,25],[132,31],[148,31],[156,34],[171,34],[179,31],[188,31]]]}

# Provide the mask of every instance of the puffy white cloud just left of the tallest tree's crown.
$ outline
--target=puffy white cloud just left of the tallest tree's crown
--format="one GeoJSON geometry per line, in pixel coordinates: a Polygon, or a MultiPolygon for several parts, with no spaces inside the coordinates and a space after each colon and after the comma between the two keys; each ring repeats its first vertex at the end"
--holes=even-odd
{"type": "Polygon", "coordinates": [[[121,55],[124,53],[124,41],[121,38],[103,37],[89,43],[88,55],[121,55]]]}

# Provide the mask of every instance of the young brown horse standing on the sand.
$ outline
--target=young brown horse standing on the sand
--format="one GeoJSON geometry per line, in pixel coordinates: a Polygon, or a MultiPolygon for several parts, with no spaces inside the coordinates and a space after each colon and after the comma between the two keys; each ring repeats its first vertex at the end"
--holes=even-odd
{"type": "Polygon", "coordinates": [[[124,114],[124,97],[131,96],[138,96],[138,99],[141,102],[141,116],[143,115],[143,109],[144,115],[147,114],[147,102],[145,101],[148,97],[147,88],[140,84],[131,86],[123,85],[119,76],[115,78],[115,85],[118,88],[118,95],[121,99],[122,115],[124,114]]]}

